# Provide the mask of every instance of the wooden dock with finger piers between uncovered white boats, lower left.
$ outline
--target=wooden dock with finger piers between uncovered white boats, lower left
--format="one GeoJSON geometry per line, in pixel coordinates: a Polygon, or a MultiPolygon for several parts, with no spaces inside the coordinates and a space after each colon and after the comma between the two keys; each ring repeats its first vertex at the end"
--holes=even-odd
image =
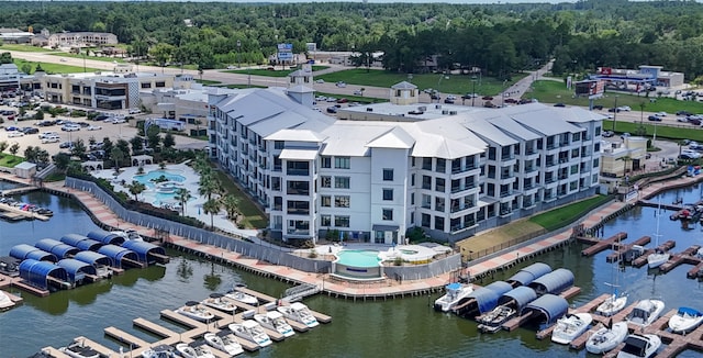
{"type": "MultiPolygon", "coordinates": [[[[160,312],[161,318],[168,320],[180,326],[186,327],[187,331],[182,333],[176,333],[157,323],[147,321],[142,317],[134,318],[132,321],[132,325],[134,327],[141,331],[147,332],[159,338],[157,342],[152,342],[152,343],[146,342],[140,337],[136,337],[114,326],[104,328],[103,329],[104,335],[110,337],[111,339],[116,340],[121,345],[124,345],[125,347],[130,347],[130,350],[125,351],[124,355],[141,357],[142,353],[149,349],[150,347],[156,347],[158,345],[175,346],[178,343],[191,343],[193,340],[201,339],[205,333],[209,333],[209,332],[217,333],[221,329],[227,328],[230,323],[241,323],[243,320],[250,318],[256,313],[264,313],[267,311],[276,310],[276,306],[280,304],[289,304],[288,301],[277,300],[268,294],[249,290],[247,288],[241,287],[241,288],[236,288],[236,290],[254,295],[255,298],[257,298],[257,300],[259,300],[259,302],[261,302],[261,304],[257,306],[253,306],[253,305],[223,297],[222,298],[223,300],[232,302],[237,306],[238,310],[236,311],[235,314],[230,315],[227,313],[208,307],[208,310],[215,315],[215,318],[208,323],[192,320],[190,317],[187,317],[171,310],[163,310],[160,312]]],[[[310,310],[310,313],[312,313],[320,323],[332,322],[332,317],[328,315],[325,315],[323,313],[315,312],[312,310],[310,310]]],[[[290,326],[299,333],[306,332],[310,329],[308,326],[301,323],[292,322],[289,320],[287,321],[290,324],[290,326]]],[[[261,327],[261,328],[264,328],[266,334],[268,334],[271,340],[274,342],[281,342],[284,339],[283,335],[281,335],[278,332],[274,332],[266,327],[261,327]]],[[[89,346],[90,348],[94,349],[96,351],[98,351],[100,355],[104,357],[120,357],[119,353],[110,348],[107,348],[96,342],[92,342],[86,337],[82,337],[82,336],[76,337],[74,340],[81,342],[82,344],[85,344],[86,346],[89,346]]],[[[237,340],[239,342],[242,347],[248,351],[256,351],[259,349],[259,347],[252,342],[248,342],[242,338],[238,338],[237,340]]],[[[211,350],[217,358],[228,357],[225,353],[220,351],[217,349],[212,348],[211,350]]],[[[54,347],[42,348],[42,351],[48,355],[49,357],[56,357],[56,358],[67,357],[65,354],[60,353],[58,349],[54,347]]]]}

